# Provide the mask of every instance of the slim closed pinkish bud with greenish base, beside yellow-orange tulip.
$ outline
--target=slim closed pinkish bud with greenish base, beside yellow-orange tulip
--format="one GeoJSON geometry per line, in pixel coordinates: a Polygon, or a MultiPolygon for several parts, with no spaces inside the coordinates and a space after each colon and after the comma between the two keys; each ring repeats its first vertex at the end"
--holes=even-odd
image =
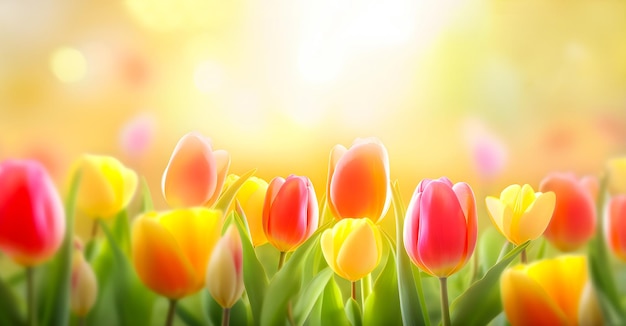
{"type": "Polygon", "coordinates": [[[244,290],[243,249],[237,227],[231,225],[217,242],[206,273],[206,286],[222,308],[232,307],[244,290]]]}

